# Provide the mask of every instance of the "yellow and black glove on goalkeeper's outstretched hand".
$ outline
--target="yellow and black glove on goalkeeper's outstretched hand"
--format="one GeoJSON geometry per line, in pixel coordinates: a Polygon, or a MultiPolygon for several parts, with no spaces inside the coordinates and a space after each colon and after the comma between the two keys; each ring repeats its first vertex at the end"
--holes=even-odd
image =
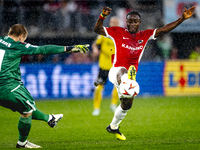
{"type": "Polygon", "coordinates": [[[86,53],[87,51],[89,51],[89,49],[88,49],[89,46],[90,46],[89,44],[66,46],[65,51],[66,52],[73,52],[73,53],[78,53],[78,52],[86,53]]]}

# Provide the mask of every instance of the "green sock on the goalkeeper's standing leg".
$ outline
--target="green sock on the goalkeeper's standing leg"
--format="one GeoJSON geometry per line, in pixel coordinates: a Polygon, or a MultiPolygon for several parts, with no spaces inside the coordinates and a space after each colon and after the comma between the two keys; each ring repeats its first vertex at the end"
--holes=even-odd
{"type": "Polygon", "coordinates": [[[23,118],[20,116],[18,123],[20,142],[25,142],[27,140],[28,134],[31,130],[31,122],[32,122],[32,116],[29,116],[28,118],[23,118]]]}

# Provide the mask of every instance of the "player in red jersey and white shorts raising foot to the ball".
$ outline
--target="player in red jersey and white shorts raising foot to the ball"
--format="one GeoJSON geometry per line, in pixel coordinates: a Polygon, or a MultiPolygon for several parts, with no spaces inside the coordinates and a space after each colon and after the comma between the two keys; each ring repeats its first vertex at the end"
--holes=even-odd
{"type": "Polygon", "coordinates": [[[100,14],[94,31],[97,34],[111,38],[115,43],[115,57],[113,67],[109,71],[109,80],[117,87],[121,104],[117,107],[110,125],[106,128],[109,133],[115,134],[119,140],[126,140],[126,137],[119,131],[119,124],[132,107],[134,95],[124,98],[120,93],[120,84],[127,80],[136,80],[138,63],[142,57],[147,42],[155,39],[159,35],[167,33],[184,20],[192,17],[195,6],[183,11],[182,16],[176,21],[169,23],[161,28],[139,31],[141,15],[137,11],[130,11],[126,15],[127,28],[104,27],[103,21],[110,14],[111,8],[104,6],[100,14]]]}

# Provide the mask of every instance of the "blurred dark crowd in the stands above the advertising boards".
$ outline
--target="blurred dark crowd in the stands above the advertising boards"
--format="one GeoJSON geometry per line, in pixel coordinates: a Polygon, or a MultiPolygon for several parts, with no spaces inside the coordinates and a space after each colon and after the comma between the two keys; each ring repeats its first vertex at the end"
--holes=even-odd
{"type": "MultiPolygon", "coordinates": [[[[103,6],[112,8],[109,17],[118,16],[122,27],[126,25],[124,19],[126,13],[132,8],[139,10],[142,16],[140,30],[143,30],[164,25],[162,5],[162,0],[3,0],[0,2],[0,13],[2,14],[0,20],[3,20],[0,22],[0,32],[2,36],[5,36],[4,33],[7,33],[7,30],[13,24],[21,23],[28,29],[28,37],[33,39],[54,37],[59,42],[61,37],[79,38],[76,43],[67,43],[67,45],[86,44],[80,40],[80,37],[82,37],[82,39],[89,39],[91,45],[97,36],[93,32],[93,28],[103,6]]],[[[104,21],[105,26],[108,26],[109,17],[104,21]]],[[[198,42],[181,47],[179,45],[182,41],[174,41],[174,38],[181,39],[181,37],[171,36],[169,33],[158,37],[155,41],[148,42],[141,61],[200,59],[198,42]],[[183,51],[186,47],[187,50],[183,51]]],[[[34,40],[30,43],[35,45],[47,44],[37,43],[34,40]]],[[[86,55],[66,53],[51,56],[24,56],[22,58],[22,63],[88,64],[97,61],[98,58],[92,53],[91,47],[86,55]]]]}

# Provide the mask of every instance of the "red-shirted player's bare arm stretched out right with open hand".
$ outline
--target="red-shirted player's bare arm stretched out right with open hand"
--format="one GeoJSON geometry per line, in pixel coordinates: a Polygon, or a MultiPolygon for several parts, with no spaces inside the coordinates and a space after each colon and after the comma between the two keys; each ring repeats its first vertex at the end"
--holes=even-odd
{"type": "Polygon", "coordinates": [[[181,16],[178,20],[176,20],[176,21],[174,21],[174,22],[172,22],[172,23],[169,23],[169,24],[167,24],[167,25],[165,25],[165,26],[163,26],[163,27],[161,27],[161,28],[158,28],[158,29],[156,30],[155,37],[157,37],[157,36],[159,36],[159,35],[162,35],[162,34],[164,34],[164,33],[167,33],[167,32],[169,32],[169,31],[173,30],[173,29],[176,28],[178,25],[180,25],[184,20],[186,20],[186,19],[192,17],[192,15],[195,14],[195,13],[194,13],[194,10],[195,10],[195,6],[189,8],[189,9],[186,9],[186,8],[185,8],[185,10],[183,11],[182,16],[181,16]]]}

